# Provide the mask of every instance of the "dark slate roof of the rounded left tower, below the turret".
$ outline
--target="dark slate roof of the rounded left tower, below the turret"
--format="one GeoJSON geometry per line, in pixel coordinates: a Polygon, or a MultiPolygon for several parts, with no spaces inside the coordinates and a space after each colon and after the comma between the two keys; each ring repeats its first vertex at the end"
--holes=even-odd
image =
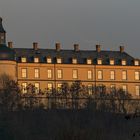
{"type": "Polygon", "coordinates": [[[15,60],[15,51],[5,44],[0,44],[0,60],[15,60]]]}

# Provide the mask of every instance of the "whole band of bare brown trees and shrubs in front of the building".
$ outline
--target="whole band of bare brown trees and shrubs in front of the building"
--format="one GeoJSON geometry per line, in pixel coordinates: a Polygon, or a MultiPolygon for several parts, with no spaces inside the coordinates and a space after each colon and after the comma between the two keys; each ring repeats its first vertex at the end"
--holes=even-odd
{"type": "Polygon", "coordinates": [[[8,75],[0,76],[0,112],[42,109],[81,109],[104,112],[127,113],[128,109],[138,110],[138,102],[131,101],[131,95],[122,89],[109,89],[105,86],[92,87],[75,81],[71,85],[63,83],[59,89],[37,90],[28,84],[26,91],[8,75]],[[38,92],[36,92],[38,91],[38,92]],[[90,93],[90,94],[89,94],[90,93]]]}

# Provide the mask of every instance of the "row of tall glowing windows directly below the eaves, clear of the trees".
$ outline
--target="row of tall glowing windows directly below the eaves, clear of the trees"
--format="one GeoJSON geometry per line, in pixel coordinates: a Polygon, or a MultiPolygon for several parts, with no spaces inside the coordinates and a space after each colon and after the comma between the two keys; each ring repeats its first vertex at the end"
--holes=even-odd
{"type": "MultiPolygon", "coordinates": [[[[58,69],[56,75],[57,75],[58,79],[62,79],[63,78],[63,70],[58,69]]],[[[135,80],[140,80],[140,72],[139,71],[135,71],[134,75],[135,75],[135,77],[134,77],[135,80]]],[[[22,76],[22,78],[27,78],[27,69],[26,68],[21,69],[21,76],[22,76]]],[[[34,69],[34,78],[39,78],[39,77],[40,77],[40,69],[35,68],[34,69]]],[[[127,80],[127,77],[128,77],[127,71],[123,70],[122,71],[122,80],[127,80]]],[[[48,79],[53,78],[53,70],[52,69],[47,69],[47,78],[48,79]]],[[[72,70],[72,78],[78,79],[78,70],[77,69],[72,70]]],[[[98,78],[98,80],[103,80],[103,71],[102,70],[97,71],[97,78],[98,78]]],[[[110,80],[115,80],[115,78],[116,78],[115,71],[111,70],[110,71],[110,80]]],[[[93,79],[92,70],[87,71],[87,79],[88,80],[93,79]]]]}

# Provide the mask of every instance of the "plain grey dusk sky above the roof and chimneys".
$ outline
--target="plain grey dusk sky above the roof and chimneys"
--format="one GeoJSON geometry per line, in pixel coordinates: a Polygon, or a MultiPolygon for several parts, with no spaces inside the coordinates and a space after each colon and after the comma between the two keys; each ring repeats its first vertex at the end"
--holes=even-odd
{"type": "Polygon", "coordinates": [[[140,0],[0,0],[7,41],[14,47],[125,51],[140,58],[140,0]]]}

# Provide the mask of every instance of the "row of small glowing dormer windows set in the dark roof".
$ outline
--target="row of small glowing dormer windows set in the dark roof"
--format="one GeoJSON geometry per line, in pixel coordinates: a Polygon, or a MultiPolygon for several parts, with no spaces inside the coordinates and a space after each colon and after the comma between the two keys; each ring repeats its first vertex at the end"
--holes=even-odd
{"type": "MultiPolygon", "coordinates": [[[[52,58],[46,58],[46,61],[48,64],[51,64],[52,63],[52,58]]],[[[21,58],[21,62],[22,63],[26,63],[27,62],[27,59],[26,57],[22,57],[21,58]]],[[[34,57],[34,63],[39,63],[39,58],[38,57],[34,57]]],[[[56,58],[56,63],[57,64],[61,64],[62,63],[62,58],[56,58]]],[[[86,61],[87,64],[92,64],[92,59],[87,59],[86,61]]],[[[78,60],[77,58],[72,58],[72,64],[78,64],[78,60]]],[[[97,64],[98,65],[102,65],[102,59],[97,59],[97,64]]],[[[121,60],[121,65],[125,66],[127,64],[127,61],[126,60],[121,60]]],[[[110,59],[110,65],[115,65],[115,60],[114,59],[110,59]]],[[[139,60],[135,60],[134,61],[134,65],[135,66],[139,66],[139,60]]]]}

